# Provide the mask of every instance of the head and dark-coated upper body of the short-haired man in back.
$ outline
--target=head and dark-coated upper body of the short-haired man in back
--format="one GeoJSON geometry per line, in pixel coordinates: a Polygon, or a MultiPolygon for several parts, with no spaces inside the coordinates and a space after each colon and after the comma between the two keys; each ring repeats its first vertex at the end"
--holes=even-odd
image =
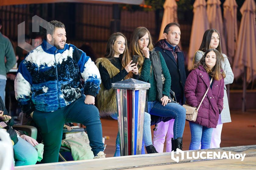
{"type": "Polygon", "coordinates": [[[165,39],[161,39],[155,44],[155,50],[162,53],[171,75],[171,89],[175,93],[177,102],[183,105],[186,101],[184,96],[186,72],[184,55],[178,46],[180,25],[176,22],[167,24],[164,29],[164,37],[165,39]]]}

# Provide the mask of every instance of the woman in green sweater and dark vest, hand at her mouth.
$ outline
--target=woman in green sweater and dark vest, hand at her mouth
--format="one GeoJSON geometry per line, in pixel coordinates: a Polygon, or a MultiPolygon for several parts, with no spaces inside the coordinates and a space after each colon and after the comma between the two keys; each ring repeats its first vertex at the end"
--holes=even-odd
{"type": "Polygon", "coordinates": [[[162,54],[154,51],[152,38],[147,28],[138,27],[133,31],[130,40],[130,51],[132,55],[140,56],[138,60],[139,80],[150,83],[150,88],[147,91],[147,104],[148,113],[151,114],[152,119],[151,125],[175,119],[172,149],[174,151],[176,151],[176,148],[182,149],[186,110],[169,97],[171,76],[162,54]]]}

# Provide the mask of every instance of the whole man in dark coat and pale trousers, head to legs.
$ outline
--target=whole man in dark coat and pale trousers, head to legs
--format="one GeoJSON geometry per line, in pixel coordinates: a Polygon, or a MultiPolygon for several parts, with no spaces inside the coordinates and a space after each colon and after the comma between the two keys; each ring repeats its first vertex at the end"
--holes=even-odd
{"type": "MultiPolygon", "coordinates": [[[[180,42],[180,25],[171,22],[165,26],[165,39],[160,39],[155,44],[155,51],[160,51],[165,59],[165,63],[171,75],[171,90],[174,91],[178,103],[183,105],[186,101],[184,96],[184,86],[186,81],[186,72],[184,65],[184,55],[178,46],[180,42]]],[[[151,117],[152,120],[152,117],[151,117]]],[[[153,145],[160,153],[163,152],[165,136],[166,136],[166,152],[175,150],[182,143],[177,139],[173,139],[174,120],[158,123],[158,131],[154,131],[153,145]]],[[[176,150],[175,150],[176,151],[176,150]]]]}

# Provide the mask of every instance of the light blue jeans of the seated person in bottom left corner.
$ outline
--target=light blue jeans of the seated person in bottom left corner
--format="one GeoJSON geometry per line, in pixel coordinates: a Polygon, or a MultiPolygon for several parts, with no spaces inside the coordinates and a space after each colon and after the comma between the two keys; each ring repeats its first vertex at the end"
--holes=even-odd
{"type": "Polygon", "coordinates": [[[15,166],[35,165],[37,163],[37,150],[27,141],[18,138],[18,142],[13,145],[15,166]]]}

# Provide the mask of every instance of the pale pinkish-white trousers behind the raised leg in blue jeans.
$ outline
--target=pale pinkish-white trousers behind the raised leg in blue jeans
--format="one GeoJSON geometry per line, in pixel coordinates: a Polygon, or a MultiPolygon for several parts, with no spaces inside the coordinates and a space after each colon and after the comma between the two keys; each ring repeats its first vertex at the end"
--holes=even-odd
{"type": "Polygon", "coordinates": [[[154,136],[152,143],[158,151],[158,153],[162,153],[164,150],[164,143],[166,137],[166,152],[172,151],[172,138],[173,138],[173,124],[175,119],[172,119],[167,122],[158,123],[157,131],[154,131],[154,136]]]}

